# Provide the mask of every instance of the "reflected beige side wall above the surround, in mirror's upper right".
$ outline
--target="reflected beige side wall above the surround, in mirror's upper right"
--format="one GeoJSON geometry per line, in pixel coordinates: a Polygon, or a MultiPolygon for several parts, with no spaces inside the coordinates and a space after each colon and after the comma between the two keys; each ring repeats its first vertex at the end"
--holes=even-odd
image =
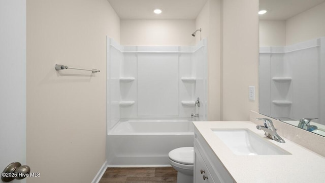
{"type": "Polygon", "coordinates": [[[325,36],[325,3],[286,20],[286,45],[325,36]]]}

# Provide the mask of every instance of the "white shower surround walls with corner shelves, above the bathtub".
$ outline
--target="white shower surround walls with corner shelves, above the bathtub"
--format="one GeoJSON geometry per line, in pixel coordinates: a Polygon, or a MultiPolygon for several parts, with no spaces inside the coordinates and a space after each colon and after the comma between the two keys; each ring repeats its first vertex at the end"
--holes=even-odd
{"type": "Polygon", "coordinates": [[[195,46],[121,46],[107,38],[108,128],[120,118],[206,119],[206,40],[195,46]],[[195,106],[200,97],[201,106],[195,106]]]}

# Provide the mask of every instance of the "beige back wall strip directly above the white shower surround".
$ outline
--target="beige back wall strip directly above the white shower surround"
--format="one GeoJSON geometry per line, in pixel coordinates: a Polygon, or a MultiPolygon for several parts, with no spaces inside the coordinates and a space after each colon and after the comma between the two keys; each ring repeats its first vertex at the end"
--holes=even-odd
{"type": "Polygon", "coordinates": [[[123,46],[190,46],[194,20],[121,20],[123,46]]]}

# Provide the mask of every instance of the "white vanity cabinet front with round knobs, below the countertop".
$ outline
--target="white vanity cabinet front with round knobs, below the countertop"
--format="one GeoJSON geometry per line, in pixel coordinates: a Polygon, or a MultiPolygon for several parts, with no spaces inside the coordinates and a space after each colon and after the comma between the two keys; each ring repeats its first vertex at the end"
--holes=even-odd
{"type": "Polygon", "coordinates": [[[194,183],[234,183],[218,157],[194,129],[194,183]]]}

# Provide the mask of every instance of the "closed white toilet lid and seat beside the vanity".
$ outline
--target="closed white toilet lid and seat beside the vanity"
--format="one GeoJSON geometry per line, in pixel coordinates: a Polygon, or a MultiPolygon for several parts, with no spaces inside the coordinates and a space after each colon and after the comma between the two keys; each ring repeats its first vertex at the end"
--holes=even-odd
{"type": "Polygon", "coordinates": [[[169,152],[169,158],[179,164],[193,165],[194,164],[194,148],[180,147],[169,152]]]}

